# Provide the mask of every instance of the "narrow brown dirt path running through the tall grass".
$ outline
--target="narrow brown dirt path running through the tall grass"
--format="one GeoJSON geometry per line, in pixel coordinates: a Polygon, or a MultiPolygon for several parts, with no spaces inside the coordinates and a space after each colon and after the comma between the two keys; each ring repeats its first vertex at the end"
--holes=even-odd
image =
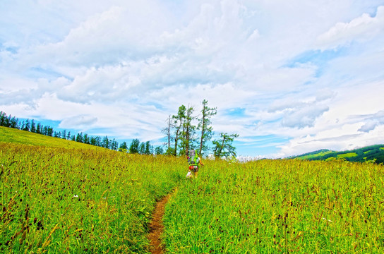
{"type": "Polygon", "coordinates": [[[164,229],[162,224],[162,217],[164,216],[164,208],[168,202],[172,193],[166,195],[162,200],[158,201],[155,207],[155,211],[152,214],[152,222],[150,222],[150,234],[148,239],[150,240],[150,252],[152,254],[164,253],[164,246],[161,244],[160,236],[164,229]]]}

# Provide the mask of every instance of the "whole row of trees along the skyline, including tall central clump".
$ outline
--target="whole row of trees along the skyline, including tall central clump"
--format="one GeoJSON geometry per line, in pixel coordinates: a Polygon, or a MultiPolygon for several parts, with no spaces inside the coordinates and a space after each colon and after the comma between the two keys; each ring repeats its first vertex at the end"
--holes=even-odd
{"type": "Polygon", "coordinates": [[[167,139],[167,142],[163,144],[166,148],[165,152],[161,146],[151,145],[150,141],[140,142],[136,138],[130,145],[126,141],[119,145],[115,139],[109,139],[108,136],[92,136],[83,132],[71,133],[66,130],[54,131],[52,126],[43,126],[34,119],[19,121],[16,116],[7,116],[3,111],[0,111],[0,126],[140,155],[181,156],[188,155],[189,150],[196,150],[200,156],[208,156],[210,152],[213,152],[215,158],[236,157],[236,147],[232,143],[234,138],[239,135],[220,133],[219,138],[210,143],[215,134],[211,126],[211,119],[217,114],[217,107],[208,107],[208,101],[205,99],[201,104],[202,109],[198,115],[194,114],[193,107],[181,105],[177,114],[168,116],[166,127],[162,129],[162,133],[166,135],[167,139]]]}

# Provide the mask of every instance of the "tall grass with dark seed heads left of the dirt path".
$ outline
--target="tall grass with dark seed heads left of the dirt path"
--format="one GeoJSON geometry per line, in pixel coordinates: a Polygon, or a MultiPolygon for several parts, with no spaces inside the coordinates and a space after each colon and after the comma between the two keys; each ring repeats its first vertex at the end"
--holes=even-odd
{"type": "Polygon", "coordinates": [[[147,253],[174,157],[0,143],[0,253],[147,253]]]}

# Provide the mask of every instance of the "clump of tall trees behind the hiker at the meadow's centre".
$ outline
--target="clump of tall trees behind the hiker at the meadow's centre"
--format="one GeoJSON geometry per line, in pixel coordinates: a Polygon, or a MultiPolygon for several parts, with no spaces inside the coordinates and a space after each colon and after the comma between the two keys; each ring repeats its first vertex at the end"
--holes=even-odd
{"type": "Polygon", "coordinates": [[[236,147],[232,145],[234,138],[239,134],[220,133],[220,138],[210,140],[215,134],[212,126],[212,116],[217,114],[217,107],[208,107],[208,101],[203,99],[202,109],[199,115],[195,115],[195,109],[188,105],[181,105],[177,114],[169,115],[166,127],[162,133],[166,135],[166,155],[188,155],[189,150],[196,150],[200,156],[208,156],[213,152],[215,158],[236,157],[236,147]]]}

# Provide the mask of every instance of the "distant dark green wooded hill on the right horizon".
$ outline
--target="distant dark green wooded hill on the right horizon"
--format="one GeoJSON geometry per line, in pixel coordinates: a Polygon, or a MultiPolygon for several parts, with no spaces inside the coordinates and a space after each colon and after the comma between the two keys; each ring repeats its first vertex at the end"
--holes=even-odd
{"type": "Polygon", "coordinates": [[[332,151],[328,149],[308,152],[303,155],[289,157],[289,159],[307,159],[307,160],[330,160],[345,159],[349,162],[367,162],[375,161],[376,163],[384,163],[384,145],[370,145],[359,149],[348,151],[332,151]]]}

